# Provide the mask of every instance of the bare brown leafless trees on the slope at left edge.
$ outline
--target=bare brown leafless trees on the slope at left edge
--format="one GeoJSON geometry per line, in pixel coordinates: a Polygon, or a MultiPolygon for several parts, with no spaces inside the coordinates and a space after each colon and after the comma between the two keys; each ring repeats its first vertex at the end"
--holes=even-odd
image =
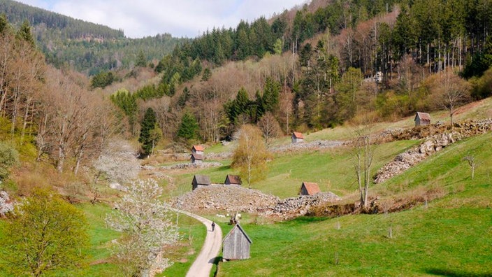
{"type": "Polygon", "coordinates": [[[87,77],[46,64],[27,22],[16,29],[0,16],[0,45],[0,139],[77,174],[117,134],[117,110],[87,90],[87,77]]]}

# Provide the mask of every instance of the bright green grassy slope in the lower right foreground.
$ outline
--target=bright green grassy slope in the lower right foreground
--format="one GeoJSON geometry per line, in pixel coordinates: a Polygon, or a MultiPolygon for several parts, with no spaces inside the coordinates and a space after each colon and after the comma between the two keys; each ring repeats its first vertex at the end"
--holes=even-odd
{"type": "Polygon", "coordinates": [[[456,143],[373,187],[447,192],[427,208],[243,225],[252,258],[220,264],[219,276],[492,276],[491,141],[485,134],[456,143]],[[481,162],[473,180],[462,160],[468,153],[481,162]]]}

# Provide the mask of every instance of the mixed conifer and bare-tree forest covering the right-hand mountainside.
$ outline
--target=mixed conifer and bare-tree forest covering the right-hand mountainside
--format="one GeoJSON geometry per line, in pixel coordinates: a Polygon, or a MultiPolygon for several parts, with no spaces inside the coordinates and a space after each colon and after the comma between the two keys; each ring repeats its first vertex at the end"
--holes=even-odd
{"type": "MultiPolygon", "coordinates": [[[[179,45],[155,67],[161,83],[147,94],[164,97],[140,106],[159,110],[168,139],[192,113],[199,138],[218,141],[245,122],[259,122],[270,83],[278,97],[269,112],[284,133],[340,125],[367,112],[398,118],[445,108],[435,101],[443,93],[438,84],[463,77],[472,84],[463,101],[480,99],[490,95],[478,78],[492,64],[491,15],[490,0],[312,1],[179,45]],[[448,71],[452,78],[444,77],[448,71]]],[[[134,103],[122,95],[117,105],[134,103]]]]}

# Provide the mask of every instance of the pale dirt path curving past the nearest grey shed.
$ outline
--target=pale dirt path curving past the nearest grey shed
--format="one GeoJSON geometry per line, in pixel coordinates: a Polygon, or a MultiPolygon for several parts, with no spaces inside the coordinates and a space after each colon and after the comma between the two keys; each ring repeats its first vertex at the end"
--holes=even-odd
{"type": "MultiPolygon", "coordinates": [[[[175,209],[173,209],[175,210],[175,209]]],[[[175,210],[184,215],[191,216],[200,220],[205,227],[207,227],[207,236],[205,242],[201,248],[200,254],[196,257],[196,260],[189,268],[187,277],[208,277],[210,276],[210,270],[215,262],[215,258],[219,255],[219,250],[222,246],[222,230],[219,225],[215,225],[215,230],[212,232],[212,221],[206,218],[202,218],[200,215],[188,213],[187,211],[175,210]]]]}

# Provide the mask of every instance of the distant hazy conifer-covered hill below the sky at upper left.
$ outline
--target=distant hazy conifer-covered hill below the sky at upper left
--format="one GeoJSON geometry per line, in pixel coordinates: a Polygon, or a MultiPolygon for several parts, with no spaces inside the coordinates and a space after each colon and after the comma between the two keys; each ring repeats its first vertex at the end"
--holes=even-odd
{"type": "Polygon", "coordinates": [[[148,61],[161,59],[175,45],[185,41],[171,34],[126,38],[121,29],[76,20],[12,0],[0,0],[0,14],[5,14],[17,27],[27,20],[48,62],[57,67],[70,64],[88,75],[130,67],[139,52],[144,52],[148,61]]]}

